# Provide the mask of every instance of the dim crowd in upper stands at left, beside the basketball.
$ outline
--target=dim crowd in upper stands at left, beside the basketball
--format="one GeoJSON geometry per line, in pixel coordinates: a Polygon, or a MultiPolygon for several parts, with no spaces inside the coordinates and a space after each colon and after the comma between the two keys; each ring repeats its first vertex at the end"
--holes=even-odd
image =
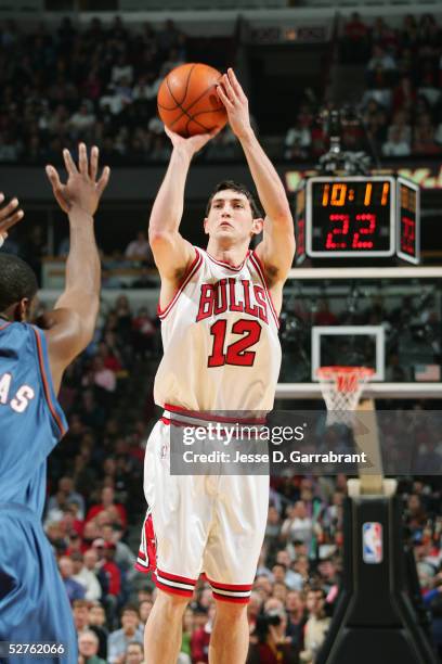
{"type": "MultiPolygon", "coordinates": [[[[194,61],[206,53],[193,52],[194,61]]],[[[157,116],[162,78],[186,62],[187,39],[172,21],[154,30],[93,18],[80,29],[0,25],[0,162],[60,163],[79,140],[101,148],[102,163],[165,162],[170,141],[157,116]]],[[[225,132],[211,146],[231,152],[225,132]]]]}

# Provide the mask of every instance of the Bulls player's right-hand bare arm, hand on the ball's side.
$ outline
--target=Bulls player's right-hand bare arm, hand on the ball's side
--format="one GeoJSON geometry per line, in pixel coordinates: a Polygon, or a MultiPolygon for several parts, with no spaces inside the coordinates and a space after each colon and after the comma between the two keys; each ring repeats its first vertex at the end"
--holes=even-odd
{"type": "Polygon", "coordinates": [[[295,254],[294,221],[284,186],[250,126],[248,100],[233,69],[222,77],[218,94],[227,112],[232,131],[243,146],[265,212],[263,241],[257,253],[264,264],[270,285],[282,285],[295,254]]]}

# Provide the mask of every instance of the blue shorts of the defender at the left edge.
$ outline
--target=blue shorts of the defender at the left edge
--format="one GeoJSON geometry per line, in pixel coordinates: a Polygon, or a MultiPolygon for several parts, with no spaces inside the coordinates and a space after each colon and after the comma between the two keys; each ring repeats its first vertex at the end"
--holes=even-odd
{"type": "Polygon", "coordinates": [[[0,503],[0,641],[63,643],[66,654],[0,656],[8,664],[77,664],[77,635],[66,589],[39,518],[0,503]]]}

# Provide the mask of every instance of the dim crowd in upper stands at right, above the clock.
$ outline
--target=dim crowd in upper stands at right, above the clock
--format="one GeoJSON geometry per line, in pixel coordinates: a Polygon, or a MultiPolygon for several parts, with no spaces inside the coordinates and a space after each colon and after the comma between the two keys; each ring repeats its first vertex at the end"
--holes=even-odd
{"type": "MultiPolygon", "coordinates": [[[[435,18],[406,15],[400,27],[392,27],[381,17],[368,25],[354,13],[343,26],[339,48],[342,64],[359,65],[365,77],[360,97],[344,100],[353,118],[343,120],[342,149],[378,158],[441,154],[442,26],[435,18]]],[[[318,157],[327,150],[318,122],[323,102],[327,105],[312,90],[304,91],[296,124],[286,135],[286,159],[318,157]]]]}

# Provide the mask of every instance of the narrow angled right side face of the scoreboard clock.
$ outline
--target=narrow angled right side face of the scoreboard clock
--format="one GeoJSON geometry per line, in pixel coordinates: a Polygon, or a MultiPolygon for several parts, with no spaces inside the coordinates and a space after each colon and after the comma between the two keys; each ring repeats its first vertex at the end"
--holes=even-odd
{"type": "Polygon", "coordinates": [[[420,253],[419,188],[398,178],[398,256],[418,264],[420,253]]]}

